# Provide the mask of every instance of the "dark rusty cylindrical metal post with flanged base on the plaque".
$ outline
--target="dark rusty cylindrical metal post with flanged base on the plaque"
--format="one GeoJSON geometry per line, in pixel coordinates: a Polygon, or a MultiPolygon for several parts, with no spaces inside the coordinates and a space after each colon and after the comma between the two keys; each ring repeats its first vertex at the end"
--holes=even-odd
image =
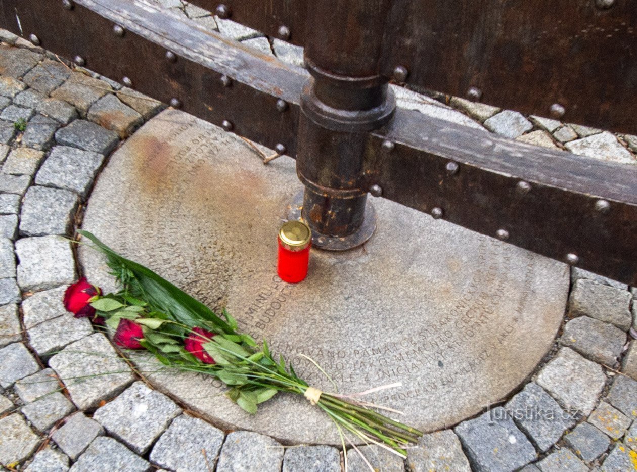
{"type": "Polygon", "coordinates": [[[313,231],[316,245],[344,250],[361,245],[375,229],[367,203],[368,132],[393,115],[396,100],[378,75],[387,0],[310,2],[305,60],[311,78],[301,94],[296,169],[305,185],[292,213],[313,231]]]}

